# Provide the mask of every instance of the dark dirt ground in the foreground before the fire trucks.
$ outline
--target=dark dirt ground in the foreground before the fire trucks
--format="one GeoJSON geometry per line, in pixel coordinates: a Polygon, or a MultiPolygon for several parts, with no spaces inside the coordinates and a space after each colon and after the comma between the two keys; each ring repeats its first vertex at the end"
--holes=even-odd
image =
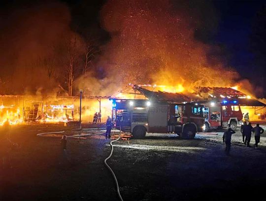
{"type": "MultiPolygon", "coordinates": [[[[42,132],[77,130],[61,125],[12,127],[12,169],[0,174],[2,201],[118,200],[113,178],[104,166],[110,140],[104,135],[67,140],[65,160],[59,136],[42,132]]],[[[92,131],[83,131],[81,134],[92,131]]],[[[63,134],[63,133],[61,133],[63,134]]],[[[232,137],[231,156],[224,153],[222,131],[182,140],[175,134],[147,134],[145,139],[120,140],[108,161],[117,175],[124,201],[266,201],[266,134],[259,149],[232,137]]],[[[252,136],[251,145],[255,140],[252,136]]]]}

